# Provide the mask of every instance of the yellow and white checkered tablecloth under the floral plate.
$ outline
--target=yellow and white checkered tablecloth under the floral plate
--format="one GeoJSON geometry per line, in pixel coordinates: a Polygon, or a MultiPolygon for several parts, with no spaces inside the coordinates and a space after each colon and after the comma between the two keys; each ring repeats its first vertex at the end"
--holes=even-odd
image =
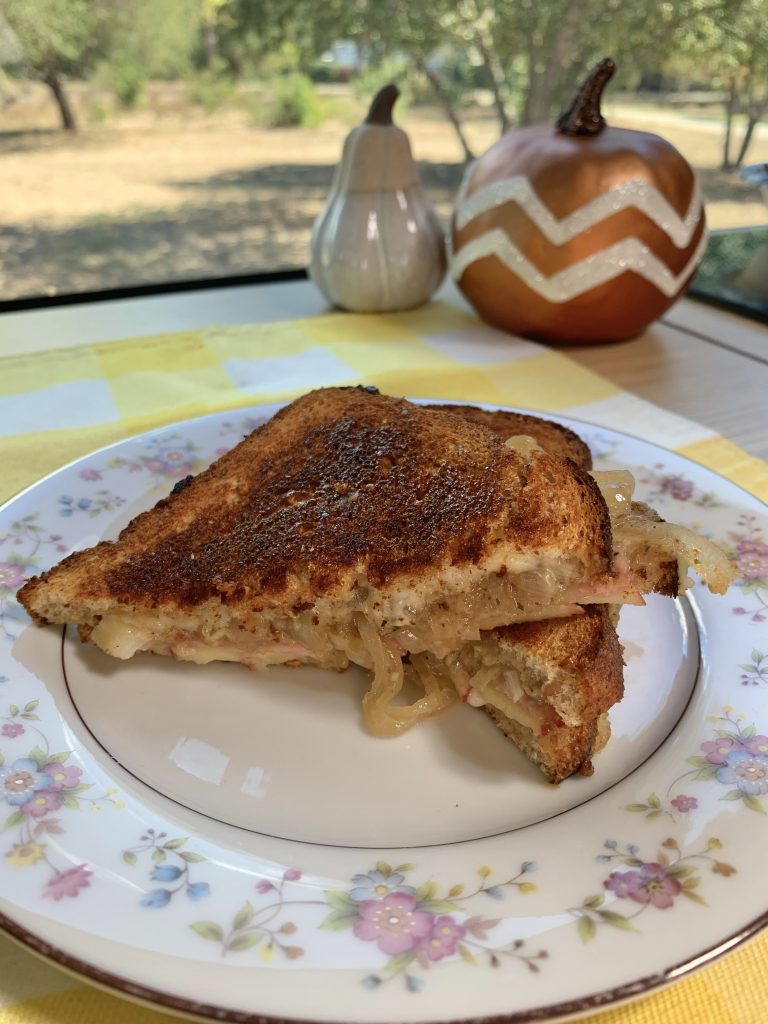
{"type": "MultiPolygon", "coordinates": [[[[674,449],[768,501],[768,466],[712,430],[629,394],[450,305],[210,327],[0,357],[0,500],[95,447],[223,409],[332,384],[562,413],[674,449]]],[[[760,894],[756,893],[756,897],[760,894]]],[[[600,1024],[765,1024],[768,935],[600,1024]]],[[[590,1017],[593,1021],[597,1018],[590,1017]]],[[[0,936],[0,1024],[161,1024],[0,936]]]]}

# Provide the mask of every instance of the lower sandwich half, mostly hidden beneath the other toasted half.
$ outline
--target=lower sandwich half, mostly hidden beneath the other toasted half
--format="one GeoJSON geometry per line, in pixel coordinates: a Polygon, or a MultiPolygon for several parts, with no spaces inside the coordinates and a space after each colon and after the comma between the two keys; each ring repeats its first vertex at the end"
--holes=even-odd
{"type": "MultiPolygon", "coordinates": [[[[505,439],[523,434],[551,454],[591,469],[588,446],[559,424],[473,407],[430,408],[467,417],[505,439]]],[[[695,543],[692,535],[633,502],[629,474],[595,475],[612,513],[615,574],[632,575],[633,586],[642,592],[677,595],[687,568],[681,556],[695,543]]],[[[722,585],[730,572],[724,556],[700,543],[709,563],[715,562],[711,574],[722,585]]],[[[591,774],[592,757],[610,735],[607,713],[624,695],[615,631],[620,610],[618,603],[592,603],[578,614],[483,631],[479,640],[467,641],[442,658],[416,655],[414,671],[451,680],[461,699],[482,708],[549,781],[560,782],[574,772],[591,774]]]]}

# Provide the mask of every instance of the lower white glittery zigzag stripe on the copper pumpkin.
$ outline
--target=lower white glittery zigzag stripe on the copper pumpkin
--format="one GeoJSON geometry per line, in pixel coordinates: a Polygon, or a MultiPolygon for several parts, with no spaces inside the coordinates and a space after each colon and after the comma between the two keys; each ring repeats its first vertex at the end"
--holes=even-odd
{"type": "Polygon", "coordinates": [[[467,267],[476,260],[484,256],[496,256],[542,298],[549,302],[568,302],[577,295],[632,270],[671,298],[693,271],[705,251],[707,239],[708,232],[705,230],[693,255],[678,274],[673,273],[667,264],[639,239],[629,238],[571,264],[564,270],[546,276],[505,231],[495,227],[454,253],[451,273],[455,281],[459,281],[467,267]]]}

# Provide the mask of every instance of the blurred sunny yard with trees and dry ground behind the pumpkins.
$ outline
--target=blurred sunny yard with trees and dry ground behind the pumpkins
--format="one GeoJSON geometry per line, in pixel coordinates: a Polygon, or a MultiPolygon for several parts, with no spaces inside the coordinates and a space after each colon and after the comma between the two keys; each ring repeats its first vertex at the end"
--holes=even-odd
{"type": "MultiPolygon", "coordinates": [[[[712,0],[710,11],[718,5],[733,26],[737,8],[759,8],[749,45],[740,23],[728,59],[722,37],[713,56],[705,29],[722,30],[701,13],[706,0],[659,4],[684,8],[687,29],[672,48],[669,25],[652,38],[636,32],[605,114],[681,150],[713,227],[765,224],[739,166],[768,161],[768,0],[712,0]]],[[[278,0],[271,14],[248,0],[0,0],[0,299],[304,265],[344,136],[389,78],[404,93],[396,121],[447,223],[466,159],[504,128],[560,109],[610,43],[581,19],[563,35],[571,5],[557,0],[520,0],[512,42],[501,2],[417,13],[416,0],[382,2],[377,10],[399,20],[378,28],[350,22],[365,6],[296,0],[281,19],[278,0]],[[73,7],[70,25],[62,11],[73,7]],[[308,27],[321,8],[329,24],[308,27]],[[542,54],[568,44],[556,76],[542,54]]],[[[609,50],[620,59],[622,38],[609,50]]]]}

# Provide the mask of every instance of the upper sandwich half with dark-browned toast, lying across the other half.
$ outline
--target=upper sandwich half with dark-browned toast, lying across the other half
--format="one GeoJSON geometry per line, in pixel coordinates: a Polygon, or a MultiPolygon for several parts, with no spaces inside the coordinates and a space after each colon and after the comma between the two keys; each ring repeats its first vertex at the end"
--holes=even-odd
{"type": "Polygon", "coordinates": [[[138,516],[31,580],[36,623],[108,653],[261,668],[366,665],[355,615],[402,652],[572,609],[609,575],[592,477],[454,414],[365,388],[310,392],[138,516]]]}

